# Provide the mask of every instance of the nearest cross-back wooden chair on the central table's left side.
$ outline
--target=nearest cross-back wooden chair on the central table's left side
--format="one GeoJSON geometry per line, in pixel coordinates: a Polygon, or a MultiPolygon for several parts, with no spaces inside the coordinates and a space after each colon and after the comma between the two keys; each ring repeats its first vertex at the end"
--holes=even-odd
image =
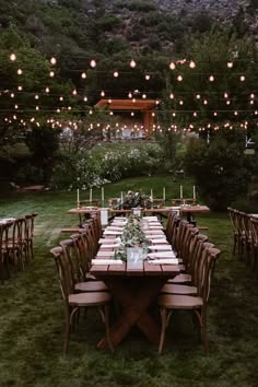
{"type": "Polygon", "coordinates": [[[109,292],[77,293],[73,271],[66,247],[55,247],[50,253],[56,262],[64,306],[66,329],[63,352],[66,353],[68,350],[70,333],[75,325],[75,316],[78,317],[80,308],[86,309],[89,307],[96,307],[98,309],[105,325],[108,347],[110,351],[114,351],[109,332],[109,304],[112,300],[109,292]]]}

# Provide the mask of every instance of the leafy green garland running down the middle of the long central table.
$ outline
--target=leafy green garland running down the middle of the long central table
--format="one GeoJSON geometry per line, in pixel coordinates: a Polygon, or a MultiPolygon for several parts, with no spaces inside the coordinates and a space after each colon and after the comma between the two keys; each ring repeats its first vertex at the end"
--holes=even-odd
{"type": "Polygon", "coordinates": [[[148,249],[150,242],[140,226],[140,218],[130,215],[121,235],[120,247],[115,254],[115,259],[127,260],[127,247],[141,247],[148,249]]]}

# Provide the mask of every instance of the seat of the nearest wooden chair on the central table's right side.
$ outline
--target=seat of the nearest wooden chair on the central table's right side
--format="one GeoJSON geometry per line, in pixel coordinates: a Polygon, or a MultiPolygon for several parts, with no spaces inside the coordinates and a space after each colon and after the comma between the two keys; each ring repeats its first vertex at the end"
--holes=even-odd
{"type": "Polygon", "coordinates": [[[169,309],[195,309],[203,305],[201,297],[191,295],[163,294],[159,296],[159,305],[169,309]]]}

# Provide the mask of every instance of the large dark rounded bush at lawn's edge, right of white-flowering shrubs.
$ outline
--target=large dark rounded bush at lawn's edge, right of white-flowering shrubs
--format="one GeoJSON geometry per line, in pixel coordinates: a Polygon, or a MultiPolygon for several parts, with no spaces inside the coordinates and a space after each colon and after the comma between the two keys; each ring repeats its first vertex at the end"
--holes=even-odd
{"type": "Polygon", "coordinates": [[[247,194],[251,165],[244,149],[245,134],[238,130],[214,133],[209,146],[204,140],[189,142],[186,168],[212,209],[225,210],[238,196],[247,194]]]}

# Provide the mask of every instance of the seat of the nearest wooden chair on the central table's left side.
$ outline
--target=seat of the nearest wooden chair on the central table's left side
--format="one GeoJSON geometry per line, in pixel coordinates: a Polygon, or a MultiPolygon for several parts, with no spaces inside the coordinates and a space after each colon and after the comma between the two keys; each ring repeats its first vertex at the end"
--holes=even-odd
{"type": "Polygon", "coordinates": [[[78,293],[69,295],[69,304],[74,306],[104,305],[112,300],[108,292],[78,293]]]}

